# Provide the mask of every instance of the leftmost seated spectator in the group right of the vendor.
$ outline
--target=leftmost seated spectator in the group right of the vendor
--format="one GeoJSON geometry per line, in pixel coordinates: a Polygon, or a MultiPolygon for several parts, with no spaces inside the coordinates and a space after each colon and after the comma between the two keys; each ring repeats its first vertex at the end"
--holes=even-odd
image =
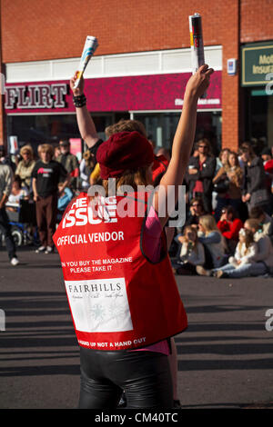
{"type": "Polygon", "coordinates": [[[177,261],[173,264],[174,273],[196,274],[197,265],[205,263],[205,252],[202,243],[198,242],[197,229],[187,225],[183,236],[177,238],[181,243],[177,261]]]}

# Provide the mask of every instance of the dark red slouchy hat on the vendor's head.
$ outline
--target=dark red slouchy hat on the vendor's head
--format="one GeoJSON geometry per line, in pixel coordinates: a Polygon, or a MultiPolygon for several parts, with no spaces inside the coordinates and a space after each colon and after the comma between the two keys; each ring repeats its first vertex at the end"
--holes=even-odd
{"type": "Polygon", "coordinates": [[[108,179],[152,164],[154,151],[152,144],[142,134],[136,131],[119,132],[99,146],[96,160],[101,178],[108,179]]]}

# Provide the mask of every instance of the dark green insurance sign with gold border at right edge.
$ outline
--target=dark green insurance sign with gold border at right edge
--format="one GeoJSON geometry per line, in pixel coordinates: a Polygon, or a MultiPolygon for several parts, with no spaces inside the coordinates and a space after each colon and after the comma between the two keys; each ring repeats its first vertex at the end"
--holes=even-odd
{"type": "Polygon", "coordinates": [[[241,84],[268,84],[267,75],[273,73],[273,41],[264,45],[245,45],[241,49],[241,84]]]}

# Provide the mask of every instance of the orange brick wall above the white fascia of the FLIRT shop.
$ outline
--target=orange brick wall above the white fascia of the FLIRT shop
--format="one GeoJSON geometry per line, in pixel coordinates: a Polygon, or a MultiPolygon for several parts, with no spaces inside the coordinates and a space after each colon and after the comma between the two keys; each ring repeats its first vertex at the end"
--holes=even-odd
{"type": "Polygon", "coordinates": [[[79,56],[87,34],[99,39],[97,55],[187,47],[187,16],[194,12],[203,17],[205,44],[217,45],[224,24],[218,3],[2,0],[3,61],[79,56]]]}

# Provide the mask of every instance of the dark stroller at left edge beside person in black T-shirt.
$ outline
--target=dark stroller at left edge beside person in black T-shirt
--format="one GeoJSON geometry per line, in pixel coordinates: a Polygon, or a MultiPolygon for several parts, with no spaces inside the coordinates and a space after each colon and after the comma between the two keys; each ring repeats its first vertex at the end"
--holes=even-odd
{"type": "MultiPolygon", "coordinates": [[[[38,244],[34,201],[20,200],[19,205],[7,203],[5,211],[9,218],[15,245],[38,244]],[[13,210],[9,210],[8,208],[12,208],[13,210]],[[31,230],[34,230],[34,233],[31,233],[31,230]]],[[[2,235],[2,244],[4,241],[5,237],[2,235]]]]}

